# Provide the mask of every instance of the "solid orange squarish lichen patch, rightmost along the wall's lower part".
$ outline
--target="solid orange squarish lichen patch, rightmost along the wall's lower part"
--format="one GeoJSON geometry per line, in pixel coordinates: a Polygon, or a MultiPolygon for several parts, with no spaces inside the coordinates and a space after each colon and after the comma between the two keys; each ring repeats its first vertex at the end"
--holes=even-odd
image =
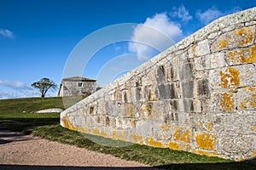
{"type": "Polygon", "coordinates": [[[214,150],[216,139],[216,134],[198,133],[195,136],[195,141],[198,147],[205,150],[214,150]]]}

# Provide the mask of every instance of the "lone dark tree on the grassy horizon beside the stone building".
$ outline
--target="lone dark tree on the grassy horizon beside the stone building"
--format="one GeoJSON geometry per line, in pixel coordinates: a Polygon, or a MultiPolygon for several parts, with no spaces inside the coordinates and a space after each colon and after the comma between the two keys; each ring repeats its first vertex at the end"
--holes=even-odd
{"type": "Polygon", "coordinates": [[[49,78],[42,78],[39,82],[33,82],[31,85],[33,88],[36,88],[41,93],[41,97],[44,98],[46,92],[49,88],[56,89],[57,85],[49,78]]]}

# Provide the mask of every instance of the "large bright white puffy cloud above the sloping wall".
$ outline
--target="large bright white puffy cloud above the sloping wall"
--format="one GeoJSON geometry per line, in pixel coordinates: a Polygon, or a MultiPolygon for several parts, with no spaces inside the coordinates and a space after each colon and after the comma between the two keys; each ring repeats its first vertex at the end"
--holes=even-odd
{"type": "Polygon", "coordinates": [[[152,57],[154,50],[162,52],[182,37],[180,26],[169,20],[166,14],[155,14],[134,29],[129,50],[136,53],[138,59],[147,59],[152,57]]]}

